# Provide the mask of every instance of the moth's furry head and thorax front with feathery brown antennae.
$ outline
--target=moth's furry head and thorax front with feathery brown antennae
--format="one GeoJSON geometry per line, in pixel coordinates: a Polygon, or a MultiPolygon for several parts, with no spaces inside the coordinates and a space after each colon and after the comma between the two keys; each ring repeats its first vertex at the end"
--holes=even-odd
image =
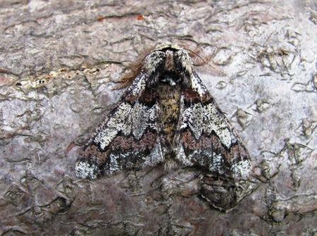
{"type": "Polygon", "coordinates": [[[225,75],[221,69],[209,63],[210,57],[204,55],[195,45],[159,43],[140,53],[137,60],[129,67],[121,82],[122,87],[129,86],[140,74],[147,75],[147,85],[154,86],[159,82],[175,84],[190,84],[193,69],[207,68],[213,74],[225,75]]]}

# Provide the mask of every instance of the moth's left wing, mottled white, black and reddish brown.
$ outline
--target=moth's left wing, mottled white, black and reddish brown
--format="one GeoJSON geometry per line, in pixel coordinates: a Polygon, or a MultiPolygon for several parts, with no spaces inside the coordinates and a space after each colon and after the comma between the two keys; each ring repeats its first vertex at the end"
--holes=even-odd
{"type": "Polygon", "coordinates": [[[76,162],[76,176],[95,179],[120,169],[140,169],[163,160],[156,93],[141,73],[96,130],[76,162]]]}

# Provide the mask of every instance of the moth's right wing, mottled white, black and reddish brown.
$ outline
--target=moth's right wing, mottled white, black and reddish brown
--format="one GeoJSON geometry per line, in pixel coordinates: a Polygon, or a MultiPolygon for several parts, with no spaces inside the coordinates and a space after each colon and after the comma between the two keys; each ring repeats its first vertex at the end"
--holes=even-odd
{"type": "Polygon", "coordinates": [[[213,174],[246,178],[250,161],[241,140],[194,72],[192,87],[183,90],[176,159],[213,174]]]}

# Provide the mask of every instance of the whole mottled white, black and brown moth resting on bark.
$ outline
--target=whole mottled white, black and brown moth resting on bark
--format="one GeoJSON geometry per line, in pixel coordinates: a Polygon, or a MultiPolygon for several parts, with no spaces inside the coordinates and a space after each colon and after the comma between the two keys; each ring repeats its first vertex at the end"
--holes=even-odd
{"type": "Polygon", "coordinates": [[[248,152],[195,72],[205,64],[193,47],[173,43],[140,55],[123,79],[128,89],[79,154],[76,176],[96,179],[162,163],[246,178],[248,152]]]}

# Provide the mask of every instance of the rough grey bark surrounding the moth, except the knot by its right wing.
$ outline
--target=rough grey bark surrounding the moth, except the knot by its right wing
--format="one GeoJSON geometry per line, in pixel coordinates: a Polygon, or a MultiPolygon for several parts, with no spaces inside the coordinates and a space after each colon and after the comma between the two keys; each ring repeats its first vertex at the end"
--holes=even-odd
{"type": "Polygon", "coordinates": [[[0,235],[316,235],[316,23],[312,0],[0,1],[0,235]],[[197,169],[74,176],[113,82],[158,40],[201,45],[228,74],[202,79],[257,188],[227,213],[197,169]]]}

